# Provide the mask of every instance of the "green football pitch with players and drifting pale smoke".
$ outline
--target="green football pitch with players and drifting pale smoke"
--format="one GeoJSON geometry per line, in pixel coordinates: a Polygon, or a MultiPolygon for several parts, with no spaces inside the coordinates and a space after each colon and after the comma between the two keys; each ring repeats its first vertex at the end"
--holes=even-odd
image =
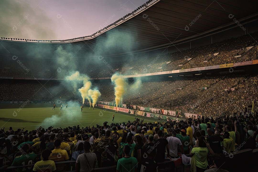
{"type": "MultiPolygon", "coordinates": [[[[21,104],[22,105],[22,104],[21,104]]],[[[54,128],[77,126],[96,126],[102,125],[104,121],[108,121],[108,125],[111,123],[122,123],[130,120],[134,121],[135,117],[141,118],[141,116],[135,116],[128,113],[115,113],[114,110],[106,110],[103,108],[89,107],[83,108],[81,112],[80,106],[69,107],[66,109],[63,105],[60,110],[60,105],[52,110],[53,105],[47,103],[38,103],[25,105],[21,108],[19,104],[1,104],[0,105],[0,126],[1,129],[5,127],[5,131],[12,127],[13,130],[26,127],[25,130],[31,131],[37,129],[39,126],[47,128],[53,126],[54,128]],[[112,115],[115,114],[114,122],[112,121],[112,115]]],[[[144,118],[144,122],[161,121],[152,118],[144,118]]]]}

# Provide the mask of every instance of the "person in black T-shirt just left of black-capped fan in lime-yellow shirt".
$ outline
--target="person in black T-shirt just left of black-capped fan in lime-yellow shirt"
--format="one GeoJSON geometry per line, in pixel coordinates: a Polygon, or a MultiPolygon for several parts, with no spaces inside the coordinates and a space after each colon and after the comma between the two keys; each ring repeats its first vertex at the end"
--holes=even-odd
{"type": "Polygon", "coordinates": [[[211,127],[211,133],[212,135],[207,138],[207,141],[210,144],[211,149],[214,153],[223,153],[221,148],[221,142],[223,141],[223,138],[220,137],[220,132],[218,130],[215,131],[215,129],[211,127]]]}

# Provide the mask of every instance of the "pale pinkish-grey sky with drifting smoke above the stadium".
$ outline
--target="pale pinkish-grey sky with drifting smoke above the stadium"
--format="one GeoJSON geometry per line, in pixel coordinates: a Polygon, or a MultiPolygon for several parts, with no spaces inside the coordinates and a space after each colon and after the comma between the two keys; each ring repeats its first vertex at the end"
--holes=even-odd
{"type": "Polygon", "coordinates": [[[0,37],[38,40],[91,35],[147,0],[1,0],[0,37]]]}

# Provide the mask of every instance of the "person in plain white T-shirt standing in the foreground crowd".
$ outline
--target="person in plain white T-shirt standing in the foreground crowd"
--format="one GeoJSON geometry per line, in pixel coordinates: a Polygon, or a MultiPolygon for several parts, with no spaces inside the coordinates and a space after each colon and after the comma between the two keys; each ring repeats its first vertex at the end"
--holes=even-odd
{"type": "Polygon", "coordinates": [[[181,154],[184,154],[184,148],[183,148],[182,142],[180,141],[179,138],[176,137],[176,132],[174,130],[172,131],[172,136],[167,137],[167,141],[169,146],[168,157],[179,158],[178,149],[177,149],[178,145],[180,146],[181,154]]]}

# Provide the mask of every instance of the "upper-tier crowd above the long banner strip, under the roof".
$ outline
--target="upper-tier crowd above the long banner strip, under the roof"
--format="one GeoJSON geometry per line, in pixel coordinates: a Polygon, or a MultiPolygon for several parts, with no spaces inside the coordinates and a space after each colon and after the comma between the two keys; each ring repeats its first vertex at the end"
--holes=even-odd
{"type": "MultiPolygon", "coordinates": [[[[213,66],[219,64],[236,63],[242,61],[257,60],[258,47],[256,41],[258,33],[244,35],[237,38],[230,38],[221,42],[195,47],[188,50],[181,50],[170,54],[151,54],[135,55],[130,60],[123,62],[114,62],[110,59],[92,60],[84,59],[77,60],[76,58],[70,61],[70,67],[76,68],[80,73],[87,74],[90,78],[111,77],[115,72],[122,75],[135,75],[142,73],[152,73],[160,71],[171,71],[179,69],[189,69],[195,67],[213,66]],[[246,47],[255,46],[245,56],[238,56],[238,52],[246,47]],[[214,58],[206,59],[219,53],[214,58]],[[186,59],[192,58],[188,63],[179,66],[186,59]],[[166,64],[166,62],[171,62],[166,64]]],[[[36,60],[36,59],[18,59],[1,58],[0,59],[0,76],[1,77],[27,77],[27,78],[62,78],[60,69],[65,69],[57,61],[54,60],[36,60]],[[21,62],[24,67],[21,67],[21,62]],[[27,70],[28,69],[28,70],[27,70]]],[[[71,69],[67,65],[67,70],[71,69]]]]}

